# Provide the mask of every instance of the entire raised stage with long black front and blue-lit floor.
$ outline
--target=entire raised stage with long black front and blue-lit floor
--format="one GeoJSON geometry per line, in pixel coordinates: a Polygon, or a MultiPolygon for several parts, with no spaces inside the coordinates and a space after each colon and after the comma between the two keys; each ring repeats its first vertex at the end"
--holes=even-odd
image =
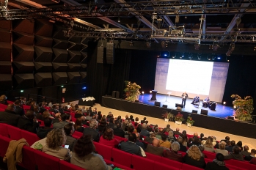
{"type": "MultiPolygon", "coordinates": [[[[162,114],[164,111],[171,112],[176,115],[178,112],[183,114],[184,121],[186,123],[186,118],[191,115],[194,119],[194,126],[202,127],[211,130],[217,130],[224,133],[231,133],[237,136],[245,136],[248,138],[256,138],[256,124],[250,122],[238,122],[235,120],[224,119],[227,116],[233,114],[233,109],[231,107],[222,106],[218,103],[216,106],[216,111],[211,111],[209,108],[202,108],[202,100],[199,108],[191,105],[191,99],[186,100],[186,108],[182,111],[178,111],[175,108],[175,103],[180,103],[181,97],[167,97],[165,95],[157,95],[156,99],[158,102],[167,105],[168,108],[154,106],[155,101],[150,101],[150,95],[142,95],[140,97],[140,102],[130,102],[127,100],[117,99],[113,97],[102,97],[101,106],[107,108],[114,108],[120,111],[127,111],[130,113],[145,115],[145,117],[156,117],[159,119],[164,119],[162,114]],[[169,103],[168,103],[169,102],[169,103]],[[208,116],[200,114],[201,109],[208,110],[208,116]],[[192,110],[199,110],[198,114],[191,114],[192,110]]],[[[164,120],[163,120],[164,121],[164,120]]]]}

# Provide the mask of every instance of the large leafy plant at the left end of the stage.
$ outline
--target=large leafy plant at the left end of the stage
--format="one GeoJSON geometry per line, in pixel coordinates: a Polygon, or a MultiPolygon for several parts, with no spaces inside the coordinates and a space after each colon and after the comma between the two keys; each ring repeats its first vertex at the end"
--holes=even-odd
{"type": "Polygon", "coordinates": [[[138,84],[136,84],[135,82],[132,84],[131,81],[125,81],[125,100],[129,100],[129,101],[135,101],[139,99],[139,89],[141,88],[138,84]]]}

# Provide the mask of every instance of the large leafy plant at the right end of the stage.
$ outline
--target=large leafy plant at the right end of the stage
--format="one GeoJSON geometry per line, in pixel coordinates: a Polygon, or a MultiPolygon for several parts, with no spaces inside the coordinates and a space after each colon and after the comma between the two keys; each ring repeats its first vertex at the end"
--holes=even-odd
{"type": "Polygon", "coordinates": [[[235,108],[234,117],[241,121],[252,121],[253,99],[251,96],[246,96],[242,99],[239,95],[231,95],[235,98],[233,106],[235,108]]]}

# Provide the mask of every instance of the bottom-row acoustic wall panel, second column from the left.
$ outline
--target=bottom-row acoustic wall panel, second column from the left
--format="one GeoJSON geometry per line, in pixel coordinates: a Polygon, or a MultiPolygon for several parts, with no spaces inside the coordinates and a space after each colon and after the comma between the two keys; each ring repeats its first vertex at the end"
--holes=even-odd
{"type": "Polygon", "coordinates": [[[34,75],[29,74],[15,74],[14,75],[15,89],[28,89],[34,87],[34,75]]]}

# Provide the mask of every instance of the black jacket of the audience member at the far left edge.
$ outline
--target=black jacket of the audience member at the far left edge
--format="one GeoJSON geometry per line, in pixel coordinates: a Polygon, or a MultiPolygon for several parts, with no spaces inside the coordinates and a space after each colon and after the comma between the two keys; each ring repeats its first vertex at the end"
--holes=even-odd
{"type": "Polygon", "coordinates": [[[14,111],[0,111],[0,123],[6,123],[8,125],[16,126],[18,125],[18,119],[20,119],[21,116],[16,114],[14,111]]]}

